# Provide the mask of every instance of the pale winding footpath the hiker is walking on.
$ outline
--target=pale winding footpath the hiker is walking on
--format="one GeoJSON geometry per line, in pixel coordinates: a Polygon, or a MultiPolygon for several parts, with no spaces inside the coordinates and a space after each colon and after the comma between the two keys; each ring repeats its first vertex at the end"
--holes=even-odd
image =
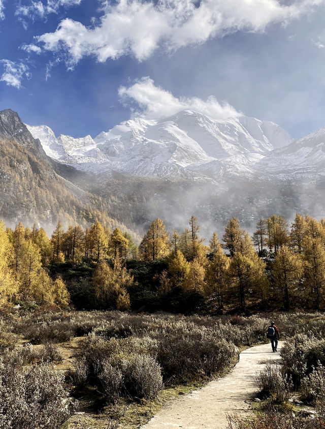
{"type": "Polygon", "coordinates": [[[280,348],[281,343],[273,353],[268,343],[243,351],[228,375],[168,403],[142,428],[225,429],[226,415],[249,412],[250,398],[258,390],[256,373],[269,359],[280,358],[280,348]]]}

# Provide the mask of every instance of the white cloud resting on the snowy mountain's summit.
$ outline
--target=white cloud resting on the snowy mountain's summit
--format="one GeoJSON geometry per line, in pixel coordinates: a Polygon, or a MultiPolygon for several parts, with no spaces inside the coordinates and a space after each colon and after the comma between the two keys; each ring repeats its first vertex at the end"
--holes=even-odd
{"type": "Polygon", "coordinates": [[[169,91],[155,86],[149,77],[143,77],[129,87],[121,86],[118,94],[124,105],[137,105],[132,109],[134,115],[149,119],[170,116],[181,110],[195,110],[214,119],[241,115],[229,104],[221,105],[213,96],[206,101],[197,97],[176,98],[169,91]]]}

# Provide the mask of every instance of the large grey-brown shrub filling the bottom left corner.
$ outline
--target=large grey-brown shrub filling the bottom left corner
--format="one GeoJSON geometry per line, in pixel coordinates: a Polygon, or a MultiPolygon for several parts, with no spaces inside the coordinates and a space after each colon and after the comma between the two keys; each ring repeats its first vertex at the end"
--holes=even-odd
{"type": "Polygon", "coordinates": [[[21,360],[0,359],[0,427],[58,429],[73,405],[63,375],[48,364],[24,368],[21,360]]]}

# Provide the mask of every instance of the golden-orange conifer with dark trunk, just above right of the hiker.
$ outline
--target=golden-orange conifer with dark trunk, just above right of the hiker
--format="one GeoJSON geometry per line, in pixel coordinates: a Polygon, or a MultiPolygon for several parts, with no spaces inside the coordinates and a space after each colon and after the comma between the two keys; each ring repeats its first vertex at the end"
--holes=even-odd
{"type": "Polygon", "coordinates": [[[290,307],[291,295],[295,285],[301,280],[303,264],[299,255],[283,246],[277,251],[273,265],[273,278],[275,286],[282,293],[283,307],[290,307]]]}

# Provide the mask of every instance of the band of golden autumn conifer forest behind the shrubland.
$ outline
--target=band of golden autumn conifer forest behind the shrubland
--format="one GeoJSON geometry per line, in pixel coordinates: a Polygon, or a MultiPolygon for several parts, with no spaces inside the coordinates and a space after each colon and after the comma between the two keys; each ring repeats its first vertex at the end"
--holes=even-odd
{"type": "Polygon", "coordinates": [[[192,216],[182,232],[161,219],[139,245],[100,222],[58,222],[51,237],[34,225],[0,224],[0,303],[77,310],[246,314],[324,305],[325,220],[297,213],[260,219],[252,236],[238,219],[221,238],[200,236],[192,216]]]}

